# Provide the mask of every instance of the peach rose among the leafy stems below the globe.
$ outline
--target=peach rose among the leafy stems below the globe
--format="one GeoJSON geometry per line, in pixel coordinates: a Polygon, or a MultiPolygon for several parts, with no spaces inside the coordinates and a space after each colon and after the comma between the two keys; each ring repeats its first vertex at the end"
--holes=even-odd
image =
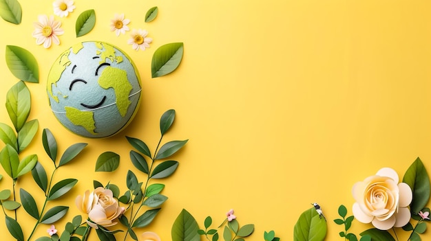
{"type": "Polygon", "coordinates": [[[84,196],[77,196],[76,207],[85,214],[88,214],[88,225],[97,229],[97,225],[109,227],[116,225],[114,222],[118,216],[125,211],[124,207],[119,207],[111,190],[97,187],[92,193],[85,191],[84,196]]]}

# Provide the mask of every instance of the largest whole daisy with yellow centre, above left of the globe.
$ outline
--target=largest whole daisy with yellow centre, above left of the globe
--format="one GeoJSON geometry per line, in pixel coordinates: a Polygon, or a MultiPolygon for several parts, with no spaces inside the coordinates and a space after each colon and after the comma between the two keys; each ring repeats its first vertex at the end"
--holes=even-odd
{"type": "Polygon", "coordinates": [[[36,44],[41,45],[43,47],[49,48],[51,47],[52,42],[56,45],[60,44],[59,35],[64,34],[64,31],[61,29],[61,22],[55,21],[54,16],[39,15],[37,17],[39,22],[34,23],[34,32],[32,36],[36,38],[36,44]]]}

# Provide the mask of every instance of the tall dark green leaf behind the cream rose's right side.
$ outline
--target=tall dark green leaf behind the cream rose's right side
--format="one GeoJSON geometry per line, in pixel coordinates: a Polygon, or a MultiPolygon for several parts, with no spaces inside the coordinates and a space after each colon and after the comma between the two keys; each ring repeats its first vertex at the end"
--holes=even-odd
{"type": "Polygon", "coordinates": [[[430,198],[430,177],[419,157],[410,165],[403,177],[403,183],[407,183],[413,192],[410,212],[418,214],[430,198]]]}

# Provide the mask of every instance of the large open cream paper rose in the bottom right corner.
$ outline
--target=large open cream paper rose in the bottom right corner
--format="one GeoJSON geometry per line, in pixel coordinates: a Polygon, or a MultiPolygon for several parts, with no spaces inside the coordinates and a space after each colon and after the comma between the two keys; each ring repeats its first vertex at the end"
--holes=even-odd
{"type": "Polygon", "coordinates": [[[355,183],[353,216],[359,222],[372,222],[381,230],[406,225],[410,220],[408,205],[412,202],[412,190],[398,181],[395,170],[382,168],[374,176],[355,183]]]}

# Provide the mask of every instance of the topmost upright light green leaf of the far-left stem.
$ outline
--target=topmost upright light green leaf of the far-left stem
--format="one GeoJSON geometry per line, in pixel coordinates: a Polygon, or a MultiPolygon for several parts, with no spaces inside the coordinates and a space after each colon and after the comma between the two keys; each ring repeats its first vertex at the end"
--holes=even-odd
{"type": "Polygon", "coordinates": [[[6,109],[15,130],[19,132],[30,115],[31,97],[23,81],[17,82],[6,94],[6,109]]]}

